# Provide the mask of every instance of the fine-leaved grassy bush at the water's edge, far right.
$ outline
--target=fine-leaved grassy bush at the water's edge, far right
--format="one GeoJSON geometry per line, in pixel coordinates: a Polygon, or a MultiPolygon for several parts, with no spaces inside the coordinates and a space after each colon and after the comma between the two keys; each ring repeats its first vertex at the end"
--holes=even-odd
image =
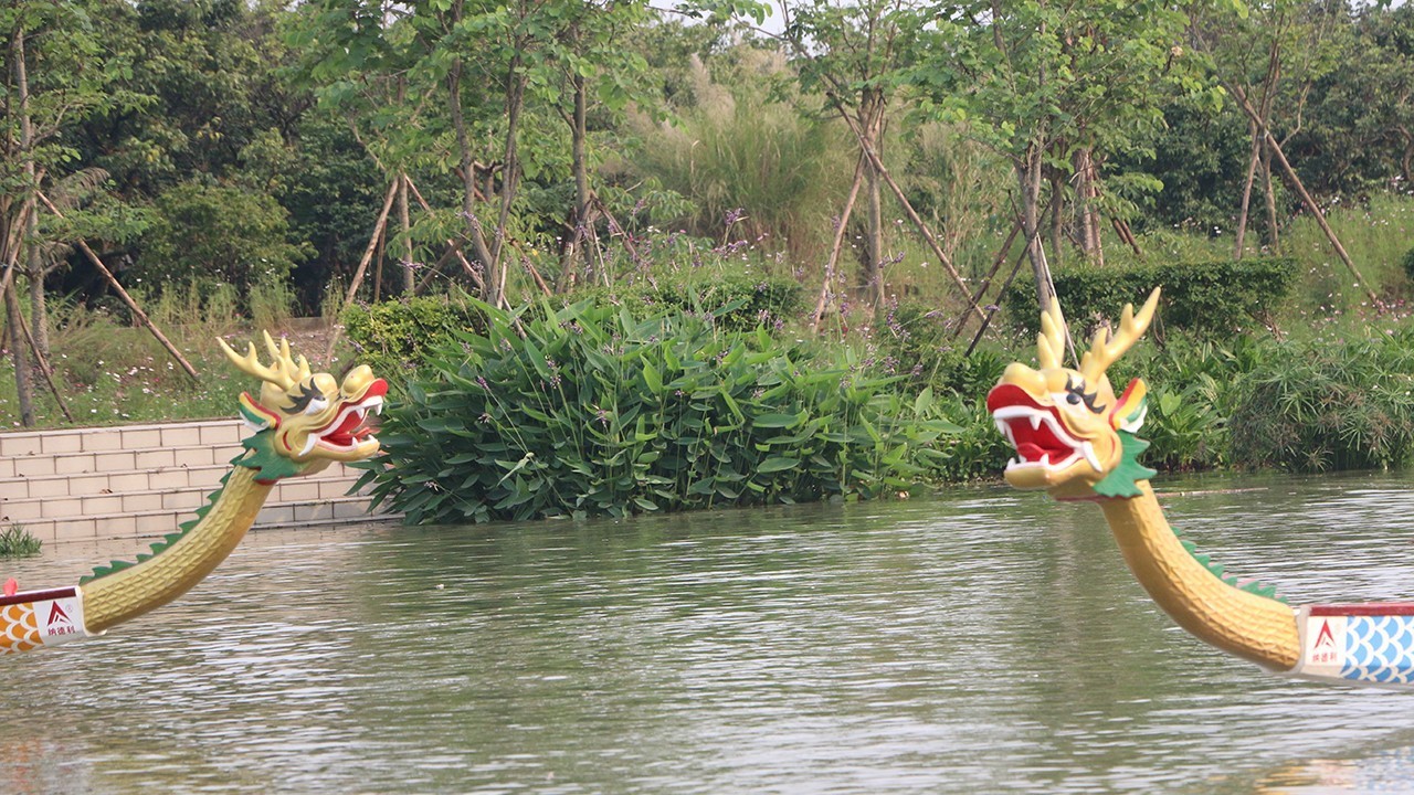
{"type": "Polygon", "coordinates": [[[1236,389],[1233,463],[1401,467],[1414,451],[1414,332],[1274,347],[1236,389]]]}

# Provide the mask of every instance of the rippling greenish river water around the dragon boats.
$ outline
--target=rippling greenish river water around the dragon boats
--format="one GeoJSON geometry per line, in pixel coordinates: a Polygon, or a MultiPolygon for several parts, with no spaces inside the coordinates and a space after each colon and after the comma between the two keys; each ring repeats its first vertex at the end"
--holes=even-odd
{"type": "MultiPolygon", "coordinates": [[[[1414,477],[1161,478],[1292,604],[1414,600],[1414,477]]],[[[72,583],[129,543],[0,563],[72,583]]],[[[1414,693],[1175,629],[1093,505],[260,532],[178,603],[0,658],[0,791],[1367,792],[1414,693]]]]}

